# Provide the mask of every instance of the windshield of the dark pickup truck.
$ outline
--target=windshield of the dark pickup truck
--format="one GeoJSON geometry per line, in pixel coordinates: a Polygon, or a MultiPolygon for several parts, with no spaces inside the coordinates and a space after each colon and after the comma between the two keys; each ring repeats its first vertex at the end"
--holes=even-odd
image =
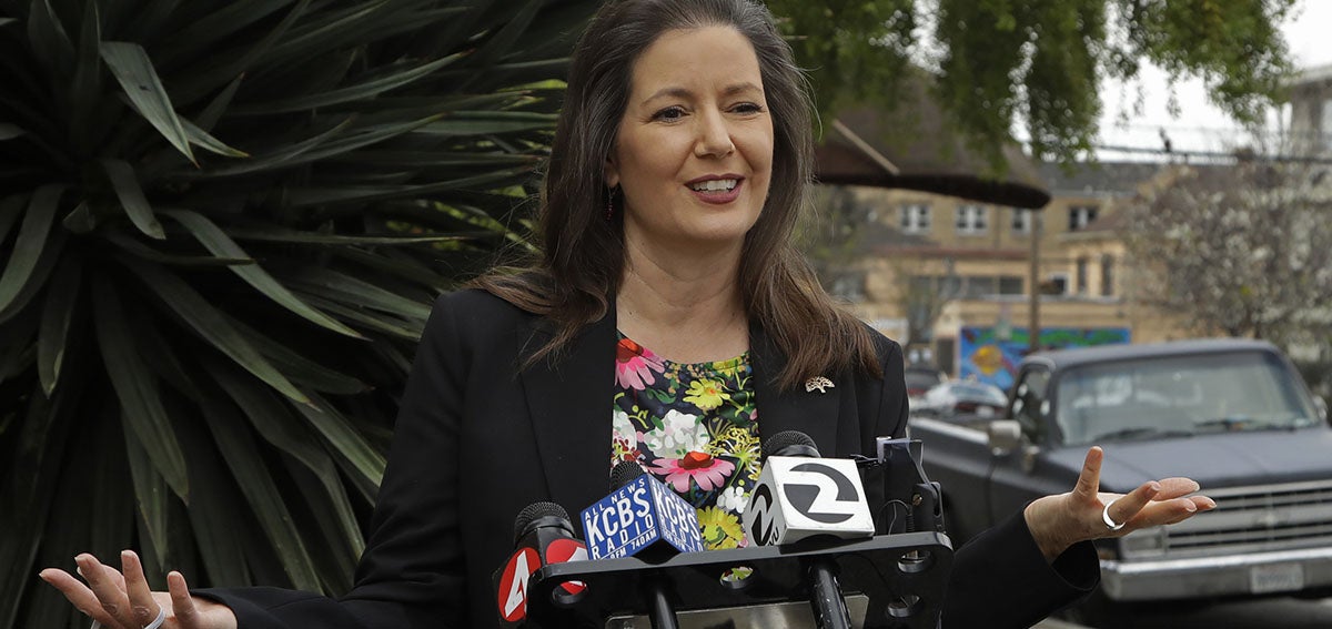
{"type": "Polygon", "coordinates": [[[1066,445],[1291,430],[1317,422],[1299,377],[1268,352],[1092,364],[1059,378],[1055,418],[1066,445]]]}

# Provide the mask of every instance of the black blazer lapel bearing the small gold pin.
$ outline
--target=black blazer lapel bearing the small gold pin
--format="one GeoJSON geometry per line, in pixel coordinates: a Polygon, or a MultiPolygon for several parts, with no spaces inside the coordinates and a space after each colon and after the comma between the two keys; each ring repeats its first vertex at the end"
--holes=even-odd
{"type": "Polygon", "coordinates": [[[843,390],[836,386],[846,382],[838,382],[832,380],[832,374],[826,374],[834,382],[826,393],[819,393],[818,389],[805,390],[805,385],[781,390],[777,376],[786,365],[786,356],[757,325],[750,326],[750,360],[754,365],[758,429],[763,440],[779,432],[799,430],[814,440],[821,454],[835,456],[838,409],[843,390]]]}

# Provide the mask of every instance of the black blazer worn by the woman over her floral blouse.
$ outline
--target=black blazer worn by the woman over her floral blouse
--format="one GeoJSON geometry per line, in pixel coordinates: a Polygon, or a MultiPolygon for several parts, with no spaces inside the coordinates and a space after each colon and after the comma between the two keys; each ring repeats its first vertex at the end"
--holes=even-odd
{"type": "MultiPolygon", "coordinates": [[[[577,516],[610,489],[614,309],[554,361],[522,369],[521,357],[553,333],[545,318],[480,291],[441,297],[402,397],[354,589],[336,601],[273,588],[197,594],[228,604],[240,629],[496,626],[490,577],[513,552],[517,513],[550,500],[577,516]]],[[[826,374],[827,393],[783,392],[770,380],[781,352],[751,329],[762,433],[801,430],[839,457],[902,436],[902,349],[875,338],[883,380],[826,374]]],[[[1090,544],[1047,565],[1020,516],[980,540],[990,541],[955,557],[947,626],[1028,626],[1099,578],[1090,544]]]]}

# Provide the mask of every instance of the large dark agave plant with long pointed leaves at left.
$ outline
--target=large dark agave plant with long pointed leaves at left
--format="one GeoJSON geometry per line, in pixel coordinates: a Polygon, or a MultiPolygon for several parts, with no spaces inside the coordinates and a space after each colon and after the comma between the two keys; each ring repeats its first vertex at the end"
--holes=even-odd
{"type": "Polygon", "coordinates": [[[589,3],[0,0],[0,626],[33,576],[337,593],[434,295],[511,239],[589,3]]]}

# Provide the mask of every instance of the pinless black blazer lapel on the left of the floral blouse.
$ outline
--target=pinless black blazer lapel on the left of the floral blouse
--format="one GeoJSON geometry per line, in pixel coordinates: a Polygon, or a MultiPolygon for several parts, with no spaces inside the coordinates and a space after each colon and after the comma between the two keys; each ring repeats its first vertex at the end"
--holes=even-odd
{"type": "MultiPolygon", "coordinates": [[[[615,381],[615,311],[578,333],[554,361],[543,360],[519,377],[537,436],[550,500],[578,512],[610,490],[611,396],[615,381]]],[[[535,320],[531,348],[553,332],[535,320]]]]}

